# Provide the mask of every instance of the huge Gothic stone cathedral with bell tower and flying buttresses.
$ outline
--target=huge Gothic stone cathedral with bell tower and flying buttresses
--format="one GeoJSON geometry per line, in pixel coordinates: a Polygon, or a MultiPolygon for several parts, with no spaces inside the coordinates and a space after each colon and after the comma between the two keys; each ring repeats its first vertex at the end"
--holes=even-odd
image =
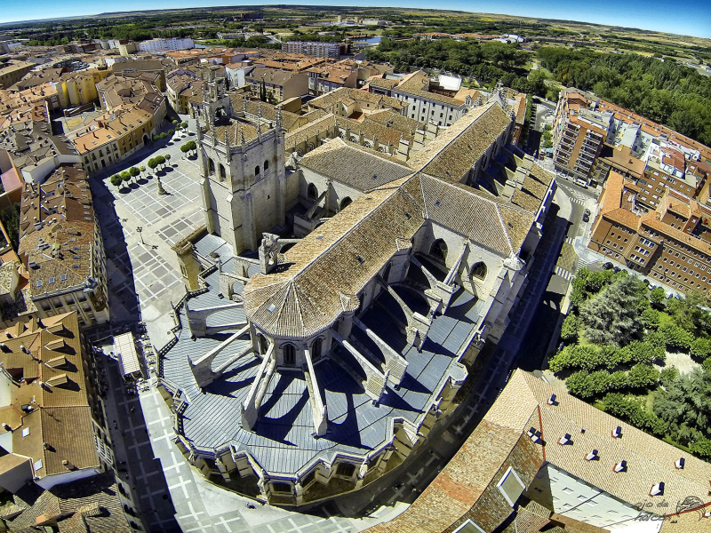
{"type": "Polygon", "coordinates": [[[407,161],[335,138],[288,162],[278,110],[231,101],[213,81],[194,109],[205,224],[173,247],[188,291],[159,388],[205,477],[313,505],[451,416],[525,288],[555,177],[499,101],[407,161]]]}

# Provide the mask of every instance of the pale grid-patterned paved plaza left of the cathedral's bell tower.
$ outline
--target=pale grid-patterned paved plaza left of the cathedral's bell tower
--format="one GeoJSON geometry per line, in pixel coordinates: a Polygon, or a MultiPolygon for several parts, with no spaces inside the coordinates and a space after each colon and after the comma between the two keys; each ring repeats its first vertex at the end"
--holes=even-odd
{"type": "Polygon", "coordinates": [[[171,303],[185,294],[174,243],[204,224],[199,202],[200,172],[195,157],[180,145],[193,135],[145,147],[132,159],[92,176],[90,184],[107,255],[111,322],[148,324],[156,346],[169,339],[171,303]],[[163,171],[148,173],[148,159],[171,155],[163,171]],[[132,166],[145,166],[138,183],[114,187],[109,177],[132,166]],[[157,194],[157,176],[166,195],[157,194]],[[138,231],[138,228],[141,231],[138,231]]]}

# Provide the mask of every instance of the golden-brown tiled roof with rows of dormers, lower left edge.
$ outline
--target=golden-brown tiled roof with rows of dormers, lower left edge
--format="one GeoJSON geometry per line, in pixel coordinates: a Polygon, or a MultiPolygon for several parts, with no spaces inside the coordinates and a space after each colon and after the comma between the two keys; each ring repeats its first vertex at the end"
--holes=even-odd
{"type": "Polygon", "coordinates": [[[19,426],[11,424],[12,453],[31,457],[39,478],[67,473],[65,460],[80,469],[99,467],[76,313],[18,322],[0,338],[4,368],[24,379],[10,399],[21,413],[19,426]]]}

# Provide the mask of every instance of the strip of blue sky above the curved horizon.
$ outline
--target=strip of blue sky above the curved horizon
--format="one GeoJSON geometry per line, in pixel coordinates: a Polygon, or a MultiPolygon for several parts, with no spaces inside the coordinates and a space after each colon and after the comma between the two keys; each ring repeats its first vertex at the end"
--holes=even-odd
{"type": "MultiPolygon", "coordinates": [[[[542,17],[550,19],[580,20],[627,26],[631,28],[656,29],[669,33],[711,38],[711,2],[709,0],[596,0],[571,2],[570,0],[495,0],[466,2],[451,0],[445,4],[427,0],[306,0],[298,4],[320,5],[379,5],[407,7],[440,7],[470,12],[507,13],[511,15],[542,17]]],[[[167,9],[176,7],[199,7],[206,5],[229,5],[225,0],[0,0],[0,22],[13,20],[50,19],[99,12],[132,11],[140,9],[167,9]]],[[[252,2],[264,4],[264,2],[252,2]]],[[[244,2],[241,5],[247,5],[244,2]]]]}

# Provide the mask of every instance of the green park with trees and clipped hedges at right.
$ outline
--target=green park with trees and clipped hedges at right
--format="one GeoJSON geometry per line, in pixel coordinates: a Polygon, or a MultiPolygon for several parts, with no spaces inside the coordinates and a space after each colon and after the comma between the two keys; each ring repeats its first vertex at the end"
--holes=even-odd
{"type": "Polygon", "coordinates": [[[548,360],[568,391],[711,459],[711,301],[667,298],[625,271],[579,271],[562,349],[548,360]]]}

